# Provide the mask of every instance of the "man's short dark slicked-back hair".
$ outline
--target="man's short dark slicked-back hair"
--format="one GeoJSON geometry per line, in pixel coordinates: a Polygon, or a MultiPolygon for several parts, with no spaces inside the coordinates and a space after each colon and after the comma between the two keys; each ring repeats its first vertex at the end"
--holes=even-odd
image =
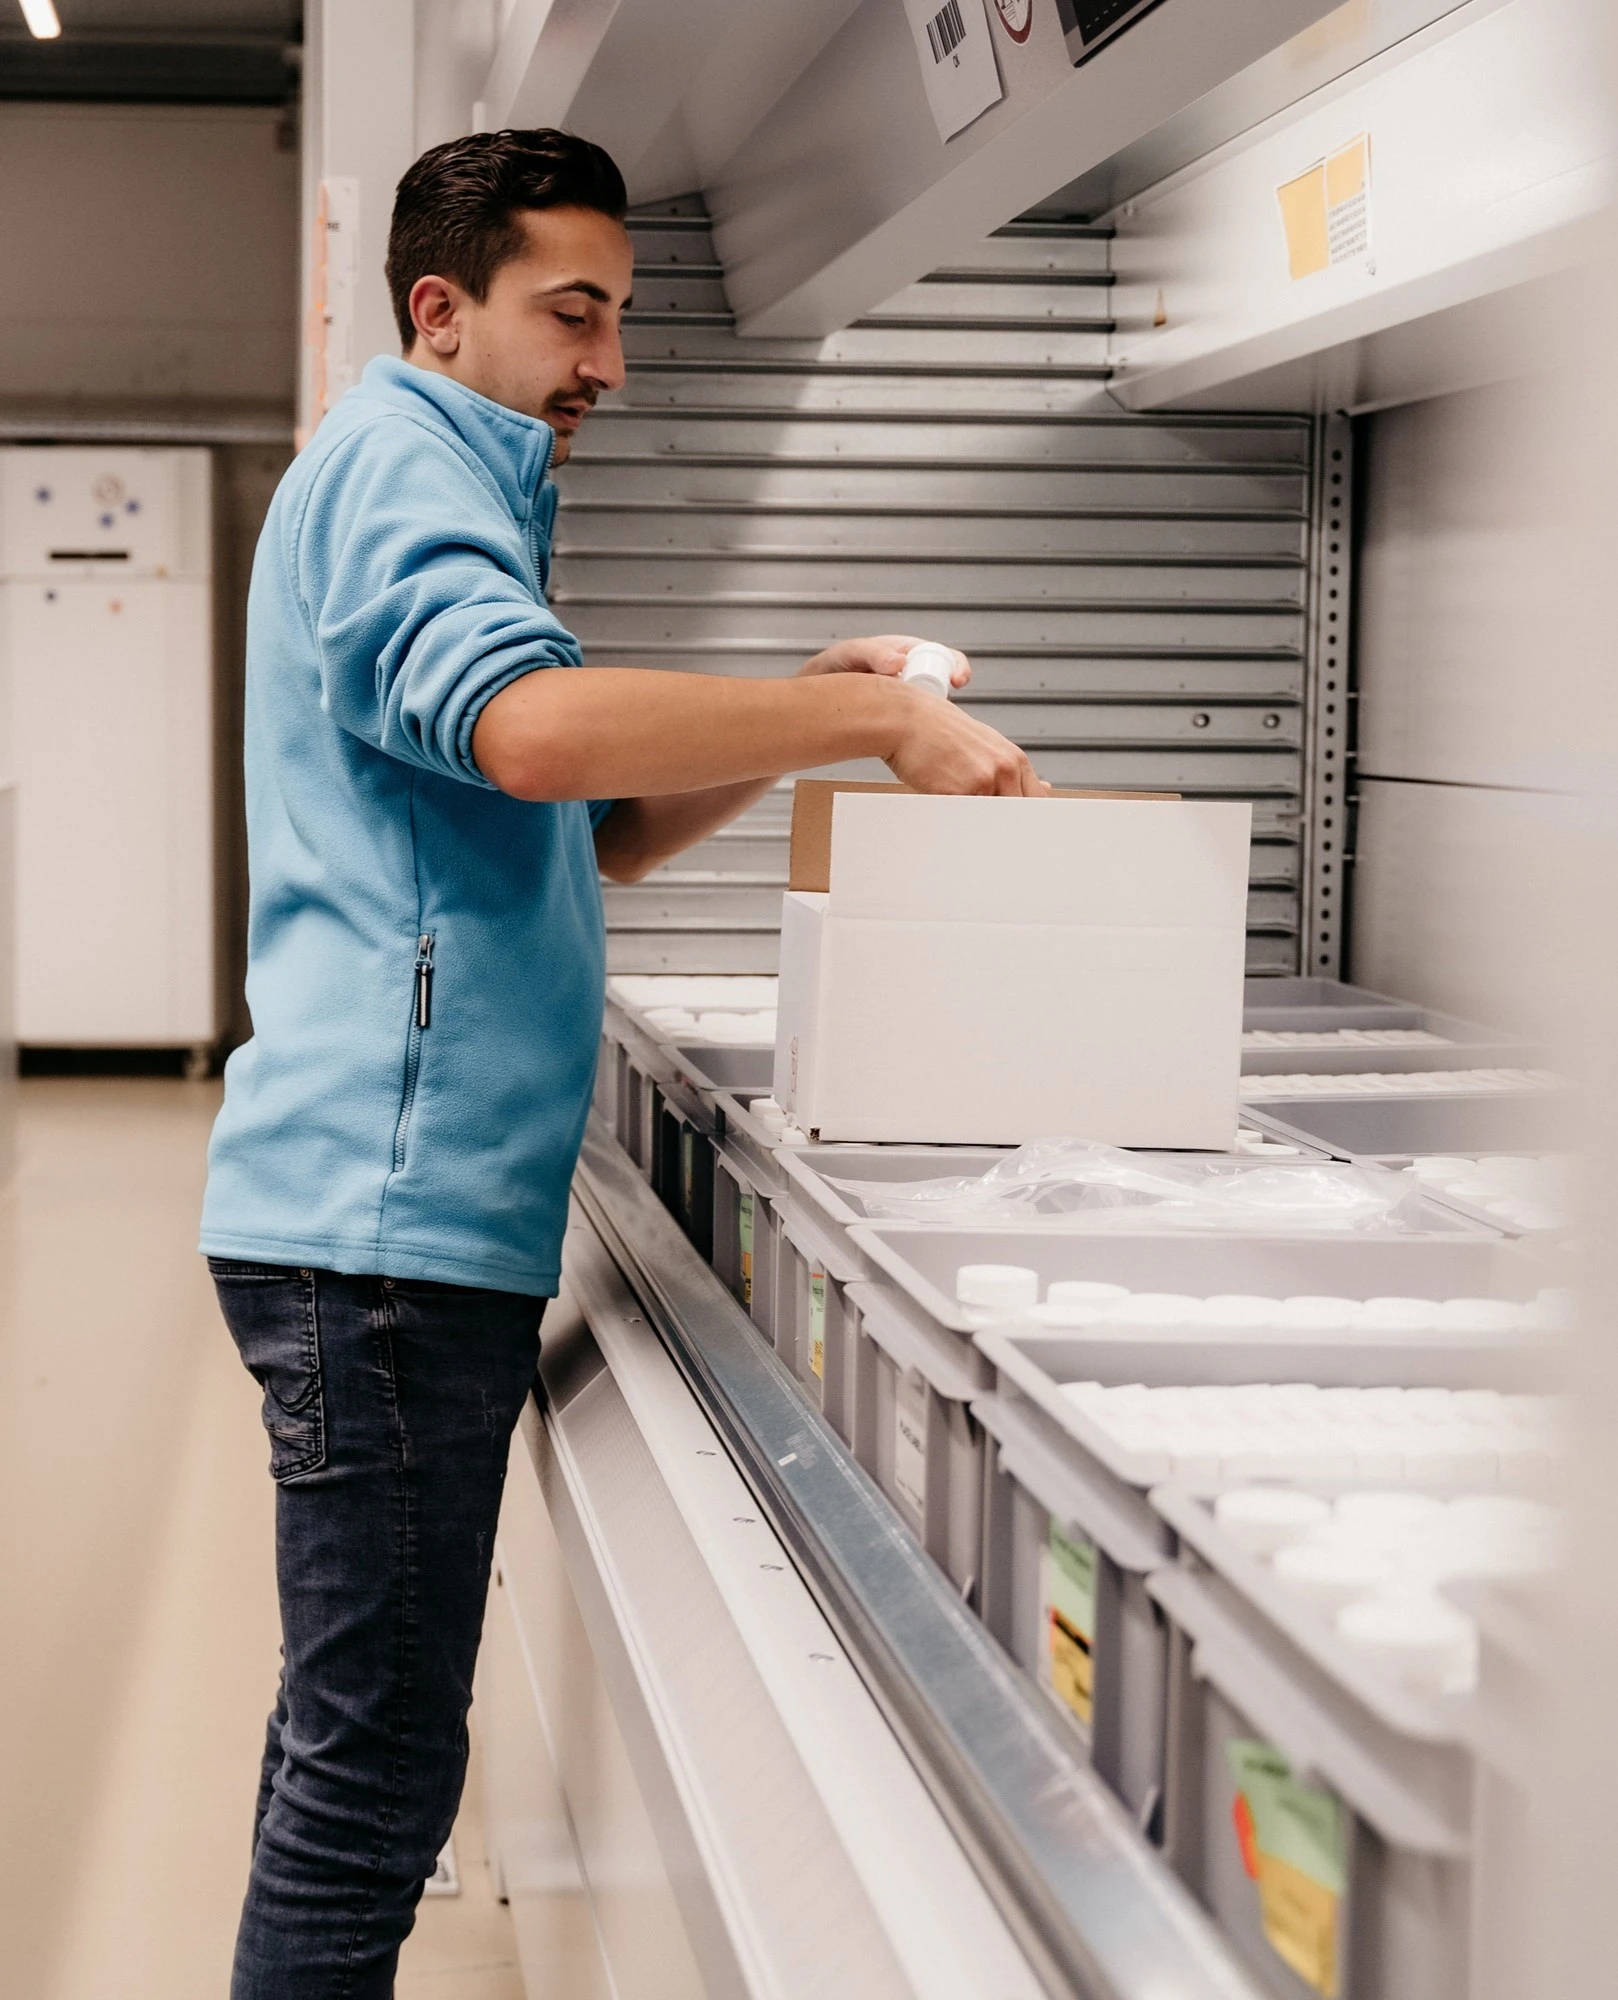
{"type": "Polygon", "coordinates": [[[612,154],[570,132],[472,132],[432,146],[394,194],[388,292],[398,336],[416,338],[410,286],[454,278],[488,298],[494,272],[522,250],[524,208],[594,208],[624,220],[630,198],[612,154]]]}

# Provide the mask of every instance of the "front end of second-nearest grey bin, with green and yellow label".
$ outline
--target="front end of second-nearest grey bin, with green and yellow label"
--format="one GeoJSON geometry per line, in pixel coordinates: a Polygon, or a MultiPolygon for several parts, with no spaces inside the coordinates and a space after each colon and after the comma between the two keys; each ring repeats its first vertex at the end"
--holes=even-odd
{"type": "Polygon", "coordinates": [[[1172,1536],[1032,1404],[982,1396],[980,1608],[1150,1838],[1160,1830],[1168,1632],[1146,1578],[1172,1536]]]}

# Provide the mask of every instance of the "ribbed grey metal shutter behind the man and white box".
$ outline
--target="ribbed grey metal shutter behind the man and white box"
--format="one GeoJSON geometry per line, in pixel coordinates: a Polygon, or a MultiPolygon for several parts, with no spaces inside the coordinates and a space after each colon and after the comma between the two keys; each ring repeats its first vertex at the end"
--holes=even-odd
{"type": "MultiPolygon", "coordinates": [[[[946,638],[1052,782],[1252,798],[1248,964],[1298,970],[1314,426],[1118,412],[1082,224],[1012,224],[820,342],[736,338],[696,200],[630,228],[630,382],[560,480],[586,658],[788,674],[946,638]]],[[[612,966],[774,970],[788,810],[608,886],[612,966]]]]}

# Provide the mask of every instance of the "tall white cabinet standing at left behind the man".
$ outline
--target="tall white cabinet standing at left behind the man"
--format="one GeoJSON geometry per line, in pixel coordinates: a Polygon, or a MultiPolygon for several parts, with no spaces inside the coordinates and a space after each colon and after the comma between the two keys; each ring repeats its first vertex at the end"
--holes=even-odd
{"type": "Polygon", "coordinates": [[[218,1034],[208,540],[206,452],[0,452],[24,1044],[218,1034]]]}

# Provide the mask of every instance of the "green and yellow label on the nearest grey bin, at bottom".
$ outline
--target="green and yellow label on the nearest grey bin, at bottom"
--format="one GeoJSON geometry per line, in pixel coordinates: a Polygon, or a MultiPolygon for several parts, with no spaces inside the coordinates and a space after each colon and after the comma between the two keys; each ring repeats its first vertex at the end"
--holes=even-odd
{"type": "Polygon", "coordinates": [[[1224,1746],[1236,1780],[1236,1840],[1258,1884],[1258,1916],[1276,1954],[1322,2000],[1338,2000],[1338,1912],[1348,1890],[1342,1806],[1300,1784],[1270,1744],[1224,1746]]]}

